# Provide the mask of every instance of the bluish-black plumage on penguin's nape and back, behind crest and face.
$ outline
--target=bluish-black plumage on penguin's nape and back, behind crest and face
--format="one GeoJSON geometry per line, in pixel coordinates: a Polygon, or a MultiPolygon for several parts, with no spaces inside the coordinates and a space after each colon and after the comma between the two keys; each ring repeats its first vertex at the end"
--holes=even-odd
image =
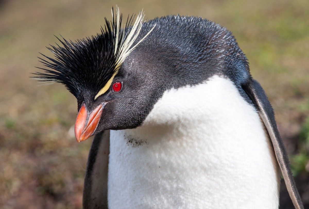
{"type": "Polygon", "coordinates": [[[202,18],[170,15],[144,23],[140,37],[153,26],[134,56],[151,54],[147,62],[159,63],[157,69],[165,71],[166,89],[197,85],[214,75],[226,76],[252,103],[241,87],[251,78],[247,58],[230,31],[202,18]]]}

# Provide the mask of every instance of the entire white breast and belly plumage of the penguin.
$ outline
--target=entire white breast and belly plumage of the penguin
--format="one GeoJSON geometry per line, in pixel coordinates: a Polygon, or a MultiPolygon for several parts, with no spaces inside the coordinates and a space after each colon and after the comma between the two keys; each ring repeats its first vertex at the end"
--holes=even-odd
{"type": "Polygon", "coordinates": [[[109,208],[278,208],[279,170],[255,108],[228,79],[171,89],[141,127],[111,131],[109,208]]]}

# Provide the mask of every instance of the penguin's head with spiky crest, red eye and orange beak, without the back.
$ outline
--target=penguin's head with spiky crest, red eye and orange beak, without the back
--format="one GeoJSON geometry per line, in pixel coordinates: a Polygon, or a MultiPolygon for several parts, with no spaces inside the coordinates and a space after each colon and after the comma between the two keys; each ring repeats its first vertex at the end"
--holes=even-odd
{"type": "Polygon", "coordinates": [[[153,28],[139,38],[142,11],[134,24],[133,18],[128,18],[124,29],[120,28],[119,9],[115,17],[113,10],[112,14],[113,20],[105,19],[105,30],[95,37],[75,42],[58,38],[63,46],[48,48],[55,58],[42,54],[45,59],[41,62],[51,69],[36,72],[36,79],[62,83],[76,97],[78,142],[103,130],[139,126],[154,103],[151,94],[156,93],[152,89],[159,83],[154,75],[147,76],[144,60],[133,51],[153,28]]]}

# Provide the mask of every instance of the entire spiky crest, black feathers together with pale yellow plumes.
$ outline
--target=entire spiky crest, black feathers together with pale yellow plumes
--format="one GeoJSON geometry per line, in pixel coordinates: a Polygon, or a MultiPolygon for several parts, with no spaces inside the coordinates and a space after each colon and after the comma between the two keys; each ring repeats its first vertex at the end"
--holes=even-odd
{"type": "Polygon", "coordinates": [[[116,15],[112,8],[112,17],[112,21],[105,18],[105,30],[101,27],[101,33],[91,38],[67,41],[61,36],[62,41],[57,37],[62,46],[56,44],[47,47],[55,58],[44,54],[41,55],[45,59],[39,58],[50,69],[38,67],[44,72],[34,73],[34,78],[42,82],[64,84],[78,100],[82,100],[84,94],[89,92],[93,93],[90,95],[92,99],[104,94],[124,59],[153,29],[132,46],[142,28],[143,12],[139,13],[134,24],[134,16],[128,16],[124,29],[121,29],[122,14],[118,7],[116,15]]]}

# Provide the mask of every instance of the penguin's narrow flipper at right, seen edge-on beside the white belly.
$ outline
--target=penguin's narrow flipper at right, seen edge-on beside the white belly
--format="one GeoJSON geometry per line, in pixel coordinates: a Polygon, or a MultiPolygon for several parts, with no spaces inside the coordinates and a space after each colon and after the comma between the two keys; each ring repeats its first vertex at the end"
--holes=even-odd
{"type": "Polygon", "coordinates": [[[254,79],[250,79],[246,84],[242,85],[242,88],[251,98],[252,102],[255,104],[260,114],[260,117],[265,124],[265,127],[273,144],[273,148],[279,167],[281,169],[283,179],[286,183],[286,188],[290,194],[290,198],[292,199],[294,207],[296,209],[303,209],[303,202],[295,185],[288,155],[281,140],[279,131],[277,129],[273,108],[271,107],[264,90],[262,89],[260,84],[254,79]]]}

